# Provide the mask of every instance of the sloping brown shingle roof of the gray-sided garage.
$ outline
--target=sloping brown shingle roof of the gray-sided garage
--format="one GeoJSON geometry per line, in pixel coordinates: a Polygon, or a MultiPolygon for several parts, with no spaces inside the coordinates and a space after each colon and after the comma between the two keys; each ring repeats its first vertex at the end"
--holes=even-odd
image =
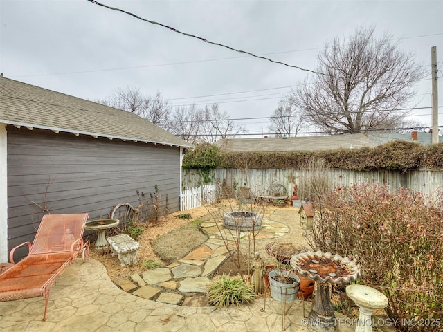
{"type": "Polygon", "coordinates": [[[6,77],[0,77],[0,122],[76,135],[193,147],[134,113],[6,77]]]}

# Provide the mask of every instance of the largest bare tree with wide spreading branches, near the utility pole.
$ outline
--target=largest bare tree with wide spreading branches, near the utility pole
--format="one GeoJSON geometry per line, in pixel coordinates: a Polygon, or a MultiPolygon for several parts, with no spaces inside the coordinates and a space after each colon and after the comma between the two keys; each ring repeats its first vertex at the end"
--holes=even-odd
{"type": "Polygon", "coordinates": [[[398,49],[386,33],[377,38],[374,26],[359,28],[349,39],[336,38],[318,55],[313,82],[291,93],[289,102],[305,119],[329,133],[357,133],[393,127],[424,77],[411,53],[398,49]]]}

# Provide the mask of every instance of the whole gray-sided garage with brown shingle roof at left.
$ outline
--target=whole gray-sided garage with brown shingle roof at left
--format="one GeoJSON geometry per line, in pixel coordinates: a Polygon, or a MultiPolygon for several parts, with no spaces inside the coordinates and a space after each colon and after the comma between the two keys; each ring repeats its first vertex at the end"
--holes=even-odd
{"type": "Polygon", "coordinates": [[[192,147],[134,113],[0,77],[0,262],[33,241],[45,209],[106,218],[158,188],[179,210],[192,147]]]}

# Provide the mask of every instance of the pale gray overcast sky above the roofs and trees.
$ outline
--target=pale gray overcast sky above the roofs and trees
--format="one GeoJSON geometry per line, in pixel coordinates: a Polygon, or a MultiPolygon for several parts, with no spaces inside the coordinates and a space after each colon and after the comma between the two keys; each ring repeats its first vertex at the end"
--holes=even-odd
{"type": "MultiPolygon", "coordinates": [[[[417,63],[429,68],[411,105],[431,107],[432,46],[437,46],[443,77],[442,0],[98,2],[311,70],[318,69],[316,55],[325,42],[373,24],[377,35],[387,32],[401,39],[399,48],[415,53],[417,63]]],[[[5,77],[94,101],[119,86],[135,86],[145,95],[160,92],[173,105],[218,102],[230,118],[268,117],[291,86],[308,75],[86,0],[0,0],[0,29],[0,71],[5,77]]],[[[431,124],[430,108],[412,114],[431,124]]],[[[269,120],[238,122],[249,133],[268,132],[269,120]]]]}

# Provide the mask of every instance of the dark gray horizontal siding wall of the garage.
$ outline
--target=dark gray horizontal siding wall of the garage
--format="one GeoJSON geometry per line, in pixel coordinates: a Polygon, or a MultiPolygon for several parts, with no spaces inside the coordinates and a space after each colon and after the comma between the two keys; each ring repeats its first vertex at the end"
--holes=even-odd
{"type": "Polygon", "coordinates": [[[8,250],[33,240],[43,216],[37,204],[51,214],[106,218],[117,203],[138,206],[136,190],[150,199],[157,185],[168,210],[179,210],[178,147],[23,127],[7,131],[8,250]]]}

